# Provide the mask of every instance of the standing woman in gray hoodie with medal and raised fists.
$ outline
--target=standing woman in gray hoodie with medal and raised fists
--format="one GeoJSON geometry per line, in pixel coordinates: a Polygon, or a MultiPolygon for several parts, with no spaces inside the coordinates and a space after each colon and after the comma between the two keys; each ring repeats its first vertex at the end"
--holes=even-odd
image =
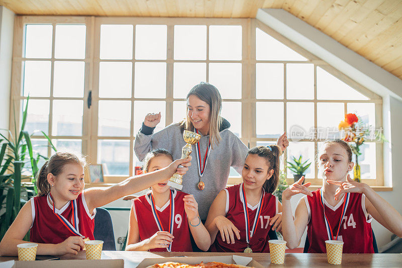
{"type": "MultiPolygon", "coordinates": [[[[194,196],[199,216],[205,222],[215,197],[226,188],[230,167],[241,173],[248,148],[229,130],[230,123],[220,116],[222,98],[214,85],[199,83],[191,88],[186,99],[186,118],[157,133],[153,130],[160,122],[160,113],[147,114],[137,133],[134,151],[138,159],[143,160],[152,149],[164,148],[171,152],[173,159],[178,159],[186,144],[183,131],[200,134],[199,142],[192,145],[193,166],[183,178],[182,191],[194,196]]],[[[288,146],[285,133],[277,144],[282,150],[288,146]]]]}

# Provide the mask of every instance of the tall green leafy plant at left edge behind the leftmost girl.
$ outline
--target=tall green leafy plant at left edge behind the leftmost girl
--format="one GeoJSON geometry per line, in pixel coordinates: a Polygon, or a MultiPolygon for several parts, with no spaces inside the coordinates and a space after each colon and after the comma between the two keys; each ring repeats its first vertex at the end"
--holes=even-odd
{"type": "MultiPolygon", "coordinates": [[[[23,111],[21,129],[17,132],[16,113],[14,111],[14,129],[5,130],[8,136],[0,133],[0,240],[17,217],[22,206],[35,196],[36,189],[35,175],[39,171],[38,161],[45,158],[35,152],[31,143],[31,136],[25,130],[28,115],[28,101],[23,111]],[[31,182],[22,180],[28,179],[31,182]]],[[[43,131],[44,137],[49,141],[50,146],[56,151],[50,138],[43,131]]],[[[28,234],[27,237],[28,238],[28,234]]]]}

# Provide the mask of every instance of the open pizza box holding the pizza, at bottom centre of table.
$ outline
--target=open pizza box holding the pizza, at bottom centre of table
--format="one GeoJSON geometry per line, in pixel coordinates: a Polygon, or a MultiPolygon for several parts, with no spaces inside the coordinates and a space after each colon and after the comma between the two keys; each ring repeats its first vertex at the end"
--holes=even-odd
{"type": "Polygon", "coordinates": [[[223,262],[228,264],[239,264],[244,266],[252,266],[256,268],[263,268],[259,262],[255,261],[251,257],[237,256],[237,255],[226,255],[226,256],[202,256],[202,257],[165,257],[165,258],[145,258],[138,264],[137,268],[146,268],[155,263],[164,263],[168,261],[182,262],[187,264],[198,264],[200,262],[223,262]]]}

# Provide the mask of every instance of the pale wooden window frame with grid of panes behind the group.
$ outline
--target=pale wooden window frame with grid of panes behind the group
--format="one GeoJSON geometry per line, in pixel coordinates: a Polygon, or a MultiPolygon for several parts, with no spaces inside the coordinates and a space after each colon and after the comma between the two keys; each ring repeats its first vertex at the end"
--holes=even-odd
{"type": "MultiPolygon", "coordinates": [[[[142,17],[65,17],[65,16],[16,16],[16,23],[14,29],[14,48],[13,48],[13,69],[12,69],[12,89],[11,89],[11,113],[10,113],[10,129],[14,129],[13,118],[13,105],[16,111],[22,111],[21,100],[26,97],[22,94],[22,79],[23,67],[22,62],[26,60],[23,57],[23,42],[25,36],[26,24],[52,24],[52,58],[51,59],[32,59],[27,60],[46,60],[51,61],[51,92],[50,97],[30,97],[30,99],[37,100],[50,100],[49,111],[49,129],[48,133],[51,134],[52,130],[52,101],[53,100],[82,100],[83,101],[83,118],[82,118],[82,136],[54,136],[49,135],[51,139],[78,139],[82,140],[82,153],[87,155],[87,160],[90,163],[97,163],[97,141],[99,139],[112,139],[112,140],[129,140],[130,142],[130,156],[129,156],[129,175],[134,172],[134,139],[137,129],[134,129],[134,101],[165,101],[165,125],[169,125],[173,119],[173,102],[185,101],[185,99],[173,98],[173,64],[175,62],[202,62],[206,63],[206,80],[209,79],[209,63],[241,63],[242,64],[242,98],[241,99],[224,99],[224,102],[240,102],[242,105],[242,126],[241,126],[241,140],[250,147],[256,145],[257,141],[276,141],[270,138],[257,138],[256,137],[256,102],[282,102],[284,103],[284,129],[286,129],[286,103],[288,102],[313,102],[315,106],[315,127],[317,127],[317,103],[344,103],[345,114],[346,105],[348,102],[354,103],[374,103],[375,105],[375,128],[379,129],[382,126],[382,98],[373,92],[369,91],[366,87],[357,83],[349,78],[339,70],[335,69],[324,60],[316,57],[309,51],[299,47],[294,42],[283,37],[276,31],[272,30],[257,19],[205,19],[205,18],[142,18],[142,17]],[[86,42],[85,42],[85,58],[84,59],[55,59],[55,30],[57,24],[85,24],[86,25],[86,42]],[[116,59],[99,59],[100,50],[100,25],[102,24],[132,24],[133,27],[133,58],[131,60],[116,60],[116,59]],[[135,59],[135,26],[136,25],[167,25],[167,57],[166,60],[136,60],[135,59]],[[207,58],[206,60],[174,60],[173,58],[173,44],[174,44],[174,25],[206,25],[207,26],[207,58]],[[209,26],[211,25],[240,25],[242,26],[242,59],[241,60],[210,60],[209,59],[209,26]],[[279,42],[288,46],[290,49],[296,51],[300,55],[306,57],[307,61],[267,61],[256,60],[256,28],[269,34],[279,42]],[[83,98],[59,98],[53,97],[53,75],[54,75],[54,62],[55,61],[84,61],[85,74],[84,74],[84,95],[83,98]],[[100,62],[113,61],[113,62],[132,62],[132,96],[131,98],[99,98],[98,83],[99,83],[99,64],[100,62]],[[134,72],[135,62],[166,62],[166,98],[153,99],[153,98],[134,98],[134,72]],[[314,100],[286,100],[286,64],[287,63],[313,63],[314,64],[314,100]],[[256,63],[283,63],[284,65],[284,99],[256,99],[256,63]],[[316,86],[316,70],[317,66],[328,71],[338,79],[353,87],[356,91],[364,94],[369,98],[368,101],[337,101],[337,100],[317,100],[317,86],[316,86]],[[92,105],[89,109],[86,100],[89,91],[91,91],[92,105]],[[98,136],[98,101],[99,100],[130,100],[131,105],[131,122],[130,122],[130,136],[127,137],[108,137],[98,136]],[[250,120],[251,118],[251,120],[250,120]],[[245,120],[247,119],[247,120],[245,120]]],[[[17,125],[20,124],[19,117],[17,118],[17,125]]],[[[342,118],[340,118],[342,120],[342,118]]],[[[43,136],[35,135],[33,138],[43,138],[43,136]]],[[[311,141],[310,139],[302,141],[311,141]]],[[[317,151],[317,140],[315,142],[315,150],[317,151]]],[[[370,186],[383,186],[383,144],[376,141],[376,178],[363,179],[362,182],[370,186]]],[[[48,148],[48,155],[51,149],[48,148]]],[[[284,153],[286,159],[286,151],[284,153]]],[[[317,163],[317,155],[315,156],[315,163],[317,163]]],[[[322,179],[317,178],[318,170],[315,168],[315,178],[307,179],[313,185],[321,185],[322,179]]],[[[104,181],[108,183],[121,182],[127,175],[106,175],[104,181]]],[[[89,178],[86,177],[86,182],[89,178]]],[[[239,177],[230,177],[228,183],[234,184],[241,181],[239,177]]],[[[287,183],[291,184],[292,179],[287,179],[287,183]]]]}

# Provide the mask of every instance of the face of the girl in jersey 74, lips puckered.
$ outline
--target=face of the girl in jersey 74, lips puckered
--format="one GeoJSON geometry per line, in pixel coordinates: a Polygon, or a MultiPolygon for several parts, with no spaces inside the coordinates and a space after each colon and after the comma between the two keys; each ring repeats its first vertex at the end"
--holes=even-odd
{"type": "Polygon", "coordinates": [[[319,154],[319,172],[324,180],[345,181],[353,162],[349,162],[345,148],[337,143],[326,143],[319,154]]]}

